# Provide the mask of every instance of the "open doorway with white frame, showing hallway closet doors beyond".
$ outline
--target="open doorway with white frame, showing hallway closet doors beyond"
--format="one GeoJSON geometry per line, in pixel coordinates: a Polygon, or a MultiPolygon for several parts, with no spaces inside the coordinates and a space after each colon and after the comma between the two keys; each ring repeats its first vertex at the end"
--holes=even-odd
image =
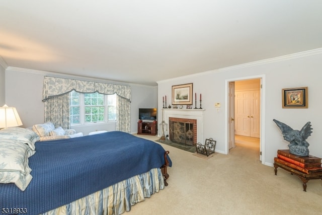
{"type": "Polygon", "coordinates": [[[262,163],[265,162],[262,159],[265,153],[262,139],[264,81],[265,75],[226,80],[226,154],[229,153],[229,149],[235,147],[235,134],[242,137],[259,138],[259,159],[262,163]]]}

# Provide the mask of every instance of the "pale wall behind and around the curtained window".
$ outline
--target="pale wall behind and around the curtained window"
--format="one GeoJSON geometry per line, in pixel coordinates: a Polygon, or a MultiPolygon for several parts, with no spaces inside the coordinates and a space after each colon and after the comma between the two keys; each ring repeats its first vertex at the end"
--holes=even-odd
{"type": "MultiPolygon", "coordinates": [[[[23,122],[22,127],[30,127],[34,124],[44,122],[44,103],[41,101],[44,76],[98,81],[97,79],[85,79],[84,77],[77,78],[75,76],[16,67],[7,68],[5,74],[6,102],[8,105],[17,108],[17,111],[23,122]]],[[[157,106],[157,88],[151,86],[112,82],[108,80],[100,81],[131,86],[131,133],[136,133],[138,108],[142,106],[157,106]]],[[[95,130],[115,130],[115,123],[97,123],[91,126],[75,126],[73,128],[75,128],[77,132],[83,132],[86,135],[95,130]]]]}

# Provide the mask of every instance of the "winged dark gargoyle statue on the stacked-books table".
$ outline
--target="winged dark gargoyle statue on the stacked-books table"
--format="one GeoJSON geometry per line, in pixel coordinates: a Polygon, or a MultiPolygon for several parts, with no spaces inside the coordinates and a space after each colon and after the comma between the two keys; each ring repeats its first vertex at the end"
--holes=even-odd
{"type": "Polygon", "coordinates": [[[276,119],[273,119],[273,121],[282,131],[284,139],[290,142],[288,148],[290,149],[291,154],[303,157],[309,156],[309,144],[306,139],[312,133],[311,122],[306,122],[306,124],[299,131],[293,130],[290,126],[276,119]]]}

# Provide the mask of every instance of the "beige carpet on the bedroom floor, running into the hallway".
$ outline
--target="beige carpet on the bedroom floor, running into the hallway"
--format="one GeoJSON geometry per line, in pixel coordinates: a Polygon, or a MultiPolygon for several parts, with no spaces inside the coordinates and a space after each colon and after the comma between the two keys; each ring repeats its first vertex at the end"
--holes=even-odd
{"type": "MultiPolygon", "coordinates": [[[[155,140],[156,136],[139,135],[155,140]]],[[[208,160],[170,151],[169,186],[131,207],[130,214],[321,214],[322,181],[299,178],[262,165],[257,141],[236,138],[229,155],[208,160]]],[[[269,150],[269,149],[267,149],[269,150]]]]}

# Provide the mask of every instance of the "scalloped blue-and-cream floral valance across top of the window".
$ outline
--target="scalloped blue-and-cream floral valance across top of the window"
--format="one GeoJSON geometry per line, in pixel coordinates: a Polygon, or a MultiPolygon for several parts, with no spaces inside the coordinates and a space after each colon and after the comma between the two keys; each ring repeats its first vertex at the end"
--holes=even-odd
{"type": "Polygon", "coordinates": [[[75,90],[79,93],[102,93],[114,94],[131,101],[131,87],[125,85],[105,84],[98,82],[80,81],[72,79],[62,79],[54,77],[45,77],[42,100],[47,99],[75,90]]]}

